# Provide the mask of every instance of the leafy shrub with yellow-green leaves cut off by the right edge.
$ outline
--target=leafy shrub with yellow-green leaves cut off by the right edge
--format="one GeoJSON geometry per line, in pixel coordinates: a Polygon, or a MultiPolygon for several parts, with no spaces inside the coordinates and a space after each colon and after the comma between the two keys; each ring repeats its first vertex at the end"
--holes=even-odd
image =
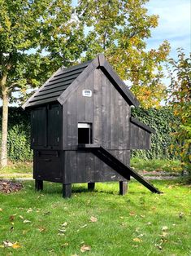
{"type": "Polygon", "coordinates": [[[176,147],[171,148],[180,156],[183,170],[189,170],[191,174],[191,58],[186,58],[179,48],[178,60],[170,59],[169,64],[169,104],[180,120],[180,126],[175,124],[177,131],[173,134],[176,147]]]}

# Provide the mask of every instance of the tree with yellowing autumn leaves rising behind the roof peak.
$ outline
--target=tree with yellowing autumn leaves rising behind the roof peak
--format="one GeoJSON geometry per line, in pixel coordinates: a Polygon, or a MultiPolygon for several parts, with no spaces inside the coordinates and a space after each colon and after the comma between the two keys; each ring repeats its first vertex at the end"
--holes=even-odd
{"type": "Polygon", "coordinates": [[[132,83],[132,91],[146,108],[158,107],[163,99],[162,64],[170,50],[164,41],[158,50],[146,50],[158,15],[148,15],[148,0],[80,0],[79,20],[87,26],[86,59],[103,52],[119,76],[132,83]]]}

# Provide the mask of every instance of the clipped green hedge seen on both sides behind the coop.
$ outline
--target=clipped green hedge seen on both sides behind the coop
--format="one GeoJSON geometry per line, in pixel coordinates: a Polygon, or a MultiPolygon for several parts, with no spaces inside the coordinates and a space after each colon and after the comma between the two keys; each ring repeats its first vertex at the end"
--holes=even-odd
{"type": "MultiPolygon", "coordinates": [[[[156,134],[152,135],[151,139],[152,148],[132,151],[132,156],[148,159],[174,158],[169,146],[171,132],[174,131],[171,128],[171,123],[177,120],[173,116],[171,108],[151,108],[149,110],[132,108],[132,116],[156,130],[156,134]]],[[[2,108],[0,108],[0,121],[2,121],[2,108]]],[[[33,159],[33,152],[30,150],[30,115],[22,108],[9,108],[8,156],[11,161],[32,161],[33,159]]]]}

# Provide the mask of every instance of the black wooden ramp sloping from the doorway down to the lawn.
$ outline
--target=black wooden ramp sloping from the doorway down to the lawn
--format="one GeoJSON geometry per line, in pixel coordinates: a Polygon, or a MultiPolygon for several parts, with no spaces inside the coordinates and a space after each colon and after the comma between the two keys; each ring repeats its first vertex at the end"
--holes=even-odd
{"type": "Polygon", "coordinates": [[[106,165],[110,166],[113,170],[115,170],[121,176],[123,176],[124,179],[129,180],[130,176],[132,176],[134,179],[137,179],[138,182],[143,184],[145,188],[148,188],[151,192],[158,194],[162,193],[158,190],[158,188],[155,188],[152,184],[148,183],[140,174],[137,174],[136,171],[132,170],[130,166],[125,166],[121,161],[119,161],[119,159],[113,156],[111,152],[108,152],[105,148],[102,148],[100,145],[79,144],[78,148],[80,150],[92,152],[95,156],[104,161],[106,165]]]}

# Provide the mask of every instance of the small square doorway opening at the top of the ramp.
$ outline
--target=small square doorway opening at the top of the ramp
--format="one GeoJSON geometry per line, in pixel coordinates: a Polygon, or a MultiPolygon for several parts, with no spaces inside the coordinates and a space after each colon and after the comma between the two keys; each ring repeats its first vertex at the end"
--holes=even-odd
{"type": "Polygon", "coordinates": [[[79,144],[92,143],[92,124],[78,123],[78,143],[79,144]]]}

